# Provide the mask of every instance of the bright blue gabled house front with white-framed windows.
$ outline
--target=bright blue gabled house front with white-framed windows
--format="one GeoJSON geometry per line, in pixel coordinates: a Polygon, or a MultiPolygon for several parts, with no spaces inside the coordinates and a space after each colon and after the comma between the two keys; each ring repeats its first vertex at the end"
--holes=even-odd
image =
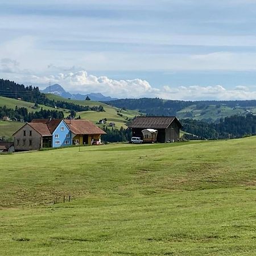
{"type": "Polygon", "coordinates": [[[52,132],[52,147],[72,146],[72,134],[67,124],[61,120],[52,132]]]}

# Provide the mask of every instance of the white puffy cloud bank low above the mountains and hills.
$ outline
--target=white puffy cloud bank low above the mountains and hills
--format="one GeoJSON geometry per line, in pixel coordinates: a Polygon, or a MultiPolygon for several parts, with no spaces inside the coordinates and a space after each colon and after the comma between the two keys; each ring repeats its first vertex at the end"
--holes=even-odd
{"type": "MultiPolygon", "coordinates": [[[[71,93],[102,93],[117,98],[159,97],[170,100],[252,100],[256,98],[256,89],[239,85],[227,89],[222,85],[212,86],[170,86],[155,88],[146,80],[114,80],[106,76],[88,75],[86,71],[59,73],[58,75],[28,75],[22,78],[31,84],[60,84],[71,93]]],[[[44,84],[44,86],[42,86],[44,84]]]]}

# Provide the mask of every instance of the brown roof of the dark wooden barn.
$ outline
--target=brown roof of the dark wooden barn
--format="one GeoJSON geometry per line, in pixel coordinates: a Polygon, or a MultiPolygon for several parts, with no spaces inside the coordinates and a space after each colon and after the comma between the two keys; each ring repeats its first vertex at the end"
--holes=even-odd
{"type": "Polygon", "coordinates": [[[176,117],[137,117],[131,122],[129,128],[166,129],[174,120],[182,127],[176,117]]]}

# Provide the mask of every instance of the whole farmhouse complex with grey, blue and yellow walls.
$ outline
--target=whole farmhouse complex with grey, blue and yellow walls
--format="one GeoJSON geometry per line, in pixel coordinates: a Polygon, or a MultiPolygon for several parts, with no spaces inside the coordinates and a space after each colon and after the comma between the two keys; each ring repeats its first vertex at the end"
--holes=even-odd
{"type": "Polygon", "coordinates": [[[42,147],[91,144],[105,134],[87,120],[33,119],[22,126],[14,136],[15,151],[39,150],[42,147]]]}

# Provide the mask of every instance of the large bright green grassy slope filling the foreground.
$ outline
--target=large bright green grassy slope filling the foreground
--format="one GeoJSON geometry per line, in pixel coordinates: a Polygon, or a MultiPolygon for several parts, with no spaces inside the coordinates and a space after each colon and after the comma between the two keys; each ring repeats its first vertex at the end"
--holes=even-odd
{"type": "Polygon", "coordinates": [[[251,137],[0,155],[0,255],[253,255],[255,150],[251,137]]]}

